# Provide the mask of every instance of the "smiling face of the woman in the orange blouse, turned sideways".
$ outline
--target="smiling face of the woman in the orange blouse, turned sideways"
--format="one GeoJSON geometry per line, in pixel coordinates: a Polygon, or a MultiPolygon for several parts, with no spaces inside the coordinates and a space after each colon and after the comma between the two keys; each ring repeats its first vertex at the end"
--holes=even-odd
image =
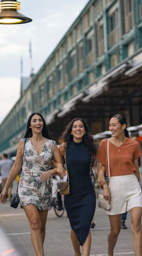
{"type": "Polygon", "coordinates": [[[124,134],[126,124],[121,125],[118,121],[118,118],[111,118],[109,124],[109,130],[112,134],[112,137],[121,137],[124,134]]]}

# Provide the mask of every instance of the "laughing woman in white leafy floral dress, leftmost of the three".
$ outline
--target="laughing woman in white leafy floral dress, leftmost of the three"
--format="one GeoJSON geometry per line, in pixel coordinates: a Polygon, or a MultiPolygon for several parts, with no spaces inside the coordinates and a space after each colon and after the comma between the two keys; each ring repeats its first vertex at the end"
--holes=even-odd
{"type": "Polygon", "coordinates": [[[8,188],[19,173],[22,161],[18,191],[20,206],[24,209],[30,224],[36,256],[44,256],[43,242],[47,213],[51,207],[52,175],[58,174],[62,178],[64,169],[59,149],[55,141],[51,140],[46,123],[39,113],[33,113],[28,118],[25,136],[18,145],[16,161],[0,194],[2,203],[6,202],[8,188]],[[52,160],[54,169],[51,170],[52,160]]]}

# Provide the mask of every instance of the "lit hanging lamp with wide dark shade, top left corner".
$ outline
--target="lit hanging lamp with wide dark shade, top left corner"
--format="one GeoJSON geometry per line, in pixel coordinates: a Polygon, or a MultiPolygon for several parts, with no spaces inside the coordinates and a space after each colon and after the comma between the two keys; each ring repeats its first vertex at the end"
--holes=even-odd
{"type": "Polygon", "coordinates": [[[20,2],[17,2],[17,0],[1,0],[0,24],[22,24],[31,22],[32,19],[17,11],[20,10],[20,5],[20,2]]]}

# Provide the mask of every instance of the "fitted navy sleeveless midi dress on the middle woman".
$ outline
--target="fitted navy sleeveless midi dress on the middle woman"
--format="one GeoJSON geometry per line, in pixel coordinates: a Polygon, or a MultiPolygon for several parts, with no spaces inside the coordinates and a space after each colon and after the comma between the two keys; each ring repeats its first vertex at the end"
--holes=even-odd
{"type": "Polygon", "coordinates": [[[90,178],[91,156],[82,142],[71,141],[66,150],[70,194],[65,195],[64,205],[79,244],[83,245],[95,213],[96,197],[90,178]]]}

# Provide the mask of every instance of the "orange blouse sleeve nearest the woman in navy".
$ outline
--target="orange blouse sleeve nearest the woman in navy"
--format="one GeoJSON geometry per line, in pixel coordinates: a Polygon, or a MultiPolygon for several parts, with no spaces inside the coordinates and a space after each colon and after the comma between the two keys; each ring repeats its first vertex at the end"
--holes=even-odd
{"type": "Polygon", "coordinates": [[[104,166],[106,165],[106,146],[107,146],[107,140],[103,139],[100,142],[99,150],[96,155],[96,158],[99,160],[100,163],[102,163],[104,166]]]}

